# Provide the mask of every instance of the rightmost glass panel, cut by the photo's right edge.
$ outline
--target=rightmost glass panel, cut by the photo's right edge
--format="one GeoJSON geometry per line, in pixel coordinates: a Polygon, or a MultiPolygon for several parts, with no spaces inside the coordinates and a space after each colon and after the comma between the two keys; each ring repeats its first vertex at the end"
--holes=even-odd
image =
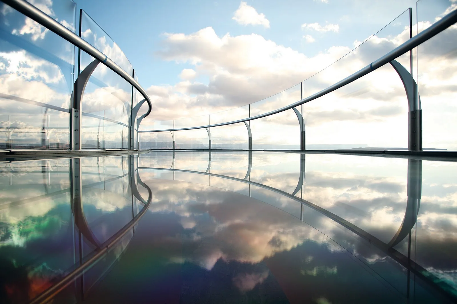
{"type": "MultiPolygon", "coordinates": [[[[455,1],[417,2],[418,32],[431,26],[457,5],[455,1]]],[[[424,149],[457,150],[457,26],[454,24],[418,48],[418,86],[422,103],[424,149]]]]}

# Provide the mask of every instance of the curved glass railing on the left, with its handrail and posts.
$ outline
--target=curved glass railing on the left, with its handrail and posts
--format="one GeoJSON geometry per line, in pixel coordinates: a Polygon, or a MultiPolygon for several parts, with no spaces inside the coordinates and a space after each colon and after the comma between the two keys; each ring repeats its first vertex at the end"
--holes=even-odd
{"type": "Polygon", "coordinates": [[[111,37],[72,0],[0,5],[0,148],[138,149],[151,101],[111,37]]]}

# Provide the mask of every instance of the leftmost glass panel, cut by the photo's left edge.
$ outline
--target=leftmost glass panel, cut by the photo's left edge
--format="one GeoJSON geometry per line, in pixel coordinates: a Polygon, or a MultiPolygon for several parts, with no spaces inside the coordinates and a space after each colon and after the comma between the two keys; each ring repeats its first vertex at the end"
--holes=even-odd
{"type": "MultiPolygon", "coordinates": [[[[0,8],[0,147],[68,149],[74,46],[8,5],[0,8]]],[[[74,31],[73,1],[40,9],[74,31]]]]}

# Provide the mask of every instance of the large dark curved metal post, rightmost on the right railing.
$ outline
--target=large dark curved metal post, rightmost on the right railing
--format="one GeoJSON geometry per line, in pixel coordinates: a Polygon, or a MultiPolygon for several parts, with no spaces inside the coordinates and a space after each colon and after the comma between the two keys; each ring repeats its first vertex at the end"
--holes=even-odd
{"type": "Polygon", "coordinates": [[[413,76],[398,61],[392,60],[390,64],[399,74],[408,99],[408,150],[422,151],[422,110],[417,84],[413,76]]]}

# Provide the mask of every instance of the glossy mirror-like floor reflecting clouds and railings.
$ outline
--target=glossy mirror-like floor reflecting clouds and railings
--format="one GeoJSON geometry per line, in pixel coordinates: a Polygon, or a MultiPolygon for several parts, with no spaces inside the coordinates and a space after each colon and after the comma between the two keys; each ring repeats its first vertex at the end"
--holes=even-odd
{"type": "Polygon", "coordinates": [[[457,300],[457,162],[152,152],[0,167],[0,303],[457,300]]]}

